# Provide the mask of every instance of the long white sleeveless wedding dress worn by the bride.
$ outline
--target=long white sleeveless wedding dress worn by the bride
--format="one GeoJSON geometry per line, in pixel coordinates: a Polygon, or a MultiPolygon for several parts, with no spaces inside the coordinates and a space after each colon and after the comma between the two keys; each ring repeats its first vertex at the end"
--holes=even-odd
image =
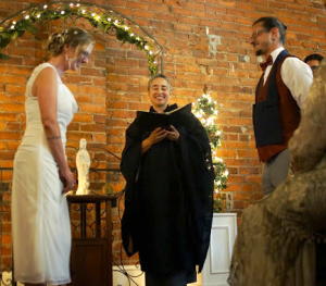
{"type": "MultiPolygon", "coordinates": [[[[49,63],[37,66],[26,88],[26,130],[14,159],[12,184],[12,233],[14,276],[22,283],[60,285],[71,282],[71,224],[58,166],[48,146],[35,78],[49,63]]],[[[54,69],[55,70],[55,69],[54,69]]],[[[77,103],[58,75],[58,122],[63,147],[66,126],[77,103]]]]}

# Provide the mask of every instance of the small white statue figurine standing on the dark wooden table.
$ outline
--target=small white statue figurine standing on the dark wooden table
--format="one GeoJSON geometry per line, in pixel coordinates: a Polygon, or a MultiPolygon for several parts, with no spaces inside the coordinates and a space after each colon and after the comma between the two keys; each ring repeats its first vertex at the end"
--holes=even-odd
{"type": "Polygon", "coordinates": [[[78,171],[78,189],[76,195],[88,195],[89,194],[89,166],[90,157],[86,150],[86,139],[80,139],[79,150],[76,156],[76,164],[78,171]]]}

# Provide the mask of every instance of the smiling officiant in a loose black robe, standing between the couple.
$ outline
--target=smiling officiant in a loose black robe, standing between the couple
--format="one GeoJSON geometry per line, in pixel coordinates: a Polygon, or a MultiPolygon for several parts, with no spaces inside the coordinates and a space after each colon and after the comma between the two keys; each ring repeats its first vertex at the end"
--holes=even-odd
{"type": "MultiPolygon", "coordinates": [[[[150,112],[170,112],[171,80],[148,84],[150,112]]],[[[209,138],[189,111],[183,124],[143,130],[139,116],[126,132],[121,170],[127,182],[123,245],[139,252],[147,286],[186,286],[197,281],[210,244],[214,171],[209,138]],[[186,119],[186,120],[185,120],[186,119]]],[[[177,119],[177,116],[176,116],[177,119]]]]}

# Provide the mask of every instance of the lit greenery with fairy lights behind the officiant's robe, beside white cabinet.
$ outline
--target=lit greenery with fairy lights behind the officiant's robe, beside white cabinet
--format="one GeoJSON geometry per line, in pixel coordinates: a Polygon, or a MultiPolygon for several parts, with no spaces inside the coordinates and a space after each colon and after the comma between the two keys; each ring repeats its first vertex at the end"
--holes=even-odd
{"type": "Polygon", "coordinates": [[[205,87],[202,97],[198,98],[197,102],[193,104],[192,112],[202,123],[210,138],[215,173],[214,191],[215,194],[218,194],[221,190],[227,187],[226,183],[229,173],[224,160],[217,157],[217,149],[221,147],[221,138],[223,134],[216,125],[216,120],[218,115],[216,104],[217,102],[212,100],[205,87]]]}

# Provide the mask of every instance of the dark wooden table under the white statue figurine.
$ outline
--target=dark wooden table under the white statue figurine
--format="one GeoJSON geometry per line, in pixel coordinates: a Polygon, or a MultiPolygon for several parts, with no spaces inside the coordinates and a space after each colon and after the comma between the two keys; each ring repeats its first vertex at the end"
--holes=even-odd
{"type": "Polygon", "coordinates": [[[72,215],[74,208],[79,212],[78,223],[72,222],[71,286],[112,286],[112,208],[115,195],[67,196],[72,215]],[[105,203],[101,210],[101,202],[105,203]],[[93,208],[95,207],[95,208],[93,208]],[[87,217],[95,211],[95,221],[87,217]],[[105,212],[105,217],[101,219],[105,212]],[[101,221],[105,221],[102,227],[101,221]],[[103,231],[104,229],[104,231],[103,231]],[[78,237],[75,236],[78,231],[78,237]],[[87,232],[90,231],[90,232],[87,232]],[[104,235],[103,235],[104,233],[104,235]]]}

